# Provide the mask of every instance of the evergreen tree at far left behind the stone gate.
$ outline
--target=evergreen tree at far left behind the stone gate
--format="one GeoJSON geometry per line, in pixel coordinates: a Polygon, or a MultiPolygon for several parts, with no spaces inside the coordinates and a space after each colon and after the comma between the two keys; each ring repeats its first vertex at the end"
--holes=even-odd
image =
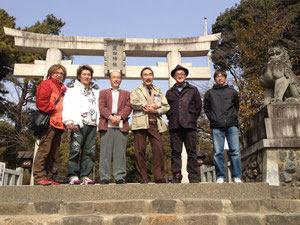
{"type": "MultiPolygon", "coordinates": [[[[24,30],[59,34],[64,24],[61,19],[51,14],[42,22],[36,22],[24,30]]],[[[17,151],[34,148],[35,137],[28,130],[28,124],[35,108],[36,88],[41,79],[18,79],[12,75],[13,66],[15,63],[43,60],[45,55],[19,52],[14,43],[5,36],[3,27],[16,28],[15,18],[0,9],[0,160],[6,162],[7,167],[14,168],[17,151]]]]}

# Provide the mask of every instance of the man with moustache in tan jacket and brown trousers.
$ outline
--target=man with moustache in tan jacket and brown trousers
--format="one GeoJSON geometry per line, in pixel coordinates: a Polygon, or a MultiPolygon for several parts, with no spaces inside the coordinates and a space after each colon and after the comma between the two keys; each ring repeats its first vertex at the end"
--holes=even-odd
{"type": "Polygon", "coordinates": [[[155,183],[165,183],[163,143],[161,133],[167,130],[162,119],[170,106],[159,87],[154,86],[154,73],[150,67],[141,71],[143,84],[130,93],[133,109],[132,131],[134,133],[135,160],[138,181],[147,183],[146,137],[149,137],[153,152],[153,174],[155,183]]]}

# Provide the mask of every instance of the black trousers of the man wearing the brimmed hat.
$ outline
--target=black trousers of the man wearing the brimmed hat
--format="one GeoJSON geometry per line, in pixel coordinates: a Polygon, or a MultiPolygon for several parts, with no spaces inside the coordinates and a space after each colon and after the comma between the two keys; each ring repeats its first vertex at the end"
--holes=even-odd
{"type": "Polygon", "coordinates": [[[186,152],[188,155],[187,161],[187,172],[189,173],[189,180],[198,179],[197,176],[197,154],[196,154],[196,131],[193,129],[187,129],[180,127],[178,129],[170,130],[170,140],[171,140],[171,148],[172,148],[172,172],[181,174],[181,153],[183,143],[186,148],[186,152]]]}

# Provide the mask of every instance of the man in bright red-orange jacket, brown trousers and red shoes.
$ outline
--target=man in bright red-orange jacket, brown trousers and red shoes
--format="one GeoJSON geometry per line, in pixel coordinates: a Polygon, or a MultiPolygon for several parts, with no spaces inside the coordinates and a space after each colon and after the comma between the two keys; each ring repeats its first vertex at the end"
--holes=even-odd
{"type": "Polygon", "coordinates": [[[62,123],[63,98],[66,87],[63,82],[67,72],[64,66],[55,64],[48,70],[47,80],[42,81],[36,91],[36,107],[51,114],[50,126],[40,134],[39,149],[33,163],[33,176],[36,185],[58,185],[52,180],[52,169],[56,160],[60,140],[65,126],[62,123]],[[61,98],[55,105],[55,101],[61,98]]]}

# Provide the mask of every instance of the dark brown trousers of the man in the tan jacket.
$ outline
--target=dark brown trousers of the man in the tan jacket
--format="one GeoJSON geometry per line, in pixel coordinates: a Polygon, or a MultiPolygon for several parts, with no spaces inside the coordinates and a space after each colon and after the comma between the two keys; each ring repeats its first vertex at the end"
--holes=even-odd
{"type": "Polygon", "coordinates": [[[161,134],[158,132],[157,123],[149,122],[148,129],[135,130],[135,161],[138,181],[147,181],[146,167],[146,138],[148,136],[153,153],[153,174],[155,182],[164,180],[164,156],[161,134]]]}

